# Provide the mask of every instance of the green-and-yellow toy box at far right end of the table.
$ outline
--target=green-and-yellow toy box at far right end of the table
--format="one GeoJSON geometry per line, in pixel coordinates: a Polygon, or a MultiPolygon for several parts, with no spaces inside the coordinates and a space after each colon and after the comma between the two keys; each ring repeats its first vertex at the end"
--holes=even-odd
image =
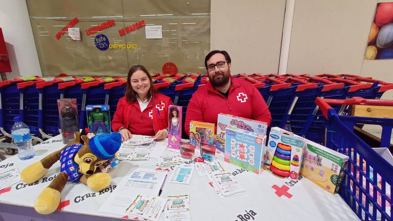
{"type": "Polygon", "coordinates": [[[335,194],[340,190],[348,159],[342,153],[307,140],[300,175],[335,194]]]}

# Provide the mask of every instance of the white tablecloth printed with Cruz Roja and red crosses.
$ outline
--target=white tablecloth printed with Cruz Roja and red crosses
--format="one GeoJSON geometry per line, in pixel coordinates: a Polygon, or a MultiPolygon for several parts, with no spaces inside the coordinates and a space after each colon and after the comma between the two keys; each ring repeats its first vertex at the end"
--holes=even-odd
{"type": "MultiPolygon", "coordinates": [[[[166,145],[167,140],[164,140],[158,142],[155,148],[163,150],[166,145]]],[[[39,161],[63,146],[61,135],[53,137],[34,146],[37,155],[32,159],[21,161],[15,155],[0,162],[0,172],[15,166],[21,172],[29,164],[39,161]]],[[[236,174],[235,178],[246,190],[244,194],[220,198],[215,193],[214,188],[209,185],[208,177],[199,177],[194,170],[189,185],[168,183],[167,179],[160,197],[190,194],[191,220],[253,220],[247,215],[247,212],[251,214],[250,210],[256,213],[253,216],[255,220],[359,220],[340,195],[332,195],[306,178],[302,178],[295,183],[288,179],[276,177],[267,171],[263,171],[261,175],[256,175],[224,162],[223,158],[222,153],[216,153],[216,161],[220,161],[226,172],[236,174]],[[273,186],[276,189],[277,187],[282,189],[288,187],[289,189],[283,192],[284,195],[281,195],[278,192],[276,194],[276,190],[272,188],[273,186]]],[[[64,206],[61,210],[98,216],[125,217],[127,214],[105,213],[98,211],[98,209],[108,196],[116,191],[113,190],[113,187],[127,174],[129,168],[156,169],[155,163],[156,158],[150,158],[149,161],[121,161],[120,164],[109,171],[112,176],[110,187],[101,192],[94,192],[82,183],[67,183],[61,193],[61,201],[64,206]]],[[[184,163],[193,164],[192,161],[185,161],[184,163]]],[[[168,176],[170,176],[173,168],[168,169],[168,176]]],[[[0,203],[33,206],[40,192],[50,184],[50,181],[59,172],[60,164],[57,162],[38,182],[30,185],[20,182],[11,186],[9,191],[0,191],[0,203]]],[[[134,218],[132,216],[127,217],[134,218]]],[[[164,213],[160,220],[164,220],[164,213]]]]}

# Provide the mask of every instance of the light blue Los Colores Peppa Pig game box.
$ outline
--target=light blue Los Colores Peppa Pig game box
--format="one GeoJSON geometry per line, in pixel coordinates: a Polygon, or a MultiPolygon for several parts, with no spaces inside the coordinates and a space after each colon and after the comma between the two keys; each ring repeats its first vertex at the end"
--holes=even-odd
{"type": "Polygon", "coordinates": [[[261,174],[263,156],[266,152],[265,143],[266,135],[264,134],[228,126],[226,128],[224,161],[255,174],[261,174]]]}

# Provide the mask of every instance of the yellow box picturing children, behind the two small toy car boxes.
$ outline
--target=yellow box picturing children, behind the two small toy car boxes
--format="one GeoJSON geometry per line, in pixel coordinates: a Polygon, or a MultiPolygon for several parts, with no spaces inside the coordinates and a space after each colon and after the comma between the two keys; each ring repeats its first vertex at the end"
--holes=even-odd
{"type": "MultiPolygon", "coordinates": [[[[201,143],[213,145],[214,124],[200,121],[190,121],[190,134],[191,133],[193,133],[194,138],[199,140],[201,143]]],[[[196,149],[199,148],[199,146],[196,146],[196,149]]]]}

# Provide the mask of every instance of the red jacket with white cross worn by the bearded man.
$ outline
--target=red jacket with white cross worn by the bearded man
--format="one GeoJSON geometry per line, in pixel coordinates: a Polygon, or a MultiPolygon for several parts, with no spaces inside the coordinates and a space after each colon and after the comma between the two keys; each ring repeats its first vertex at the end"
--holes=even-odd
{"type": "Polygon", "coordinates": [[[199,86],[187,106],[185,132],[189,135],[190,121],[202,121],[214,123],[215,134],[217,134],[219,113],[263,121],[268,125],[272,122],[272,116],[261,93],[250,82],[231,76],[228,99],[213,88],[210,82],[199,86]]]}

